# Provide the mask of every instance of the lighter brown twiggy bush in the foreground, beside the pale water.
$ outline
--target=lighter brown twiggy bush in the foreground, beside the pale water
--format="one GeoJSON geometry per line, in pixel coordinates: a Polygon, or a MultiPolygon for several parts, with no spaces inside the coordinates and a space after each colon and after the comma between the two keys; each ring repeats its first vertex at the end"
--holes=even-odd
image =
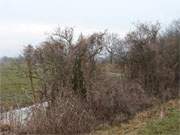
{"type": "Polygon", "coordinates": [[[90,132],[96,126],[91,109],[80,98],[66,93],[56,100],[56,106],[34,110],[23,132],[28,134],[74,135],[90,132]]]}

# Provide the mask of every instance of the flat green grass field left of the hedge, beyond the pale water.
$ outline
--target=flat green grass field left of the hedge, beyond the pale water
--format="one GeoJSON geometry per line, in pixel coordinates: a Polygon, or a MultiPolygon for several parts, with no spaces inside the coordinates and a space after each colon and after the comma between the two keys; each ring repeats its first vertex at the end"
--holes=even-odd
{"type": "Polygon", "coordinates": [[[0,98],[3,106],[23,106],[31,102],[25,64],[11,60],[0,64],[0,98]]]}

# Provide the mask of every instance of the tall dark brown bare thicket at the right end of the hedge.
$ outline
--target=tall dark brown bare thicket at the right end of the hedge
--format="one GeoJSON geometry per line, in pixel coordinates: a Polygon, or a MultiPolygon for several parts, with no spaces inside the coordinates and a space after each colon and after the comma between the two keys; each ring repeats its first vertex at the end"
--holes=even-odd
{"type": "Polygon", "coordinates": [[[140,24],[126,37],[129,50],[127,73],[151,96],[163,100],[178,96],[180,30],[169,28],[160,35],[159,24],[140,24]]]}

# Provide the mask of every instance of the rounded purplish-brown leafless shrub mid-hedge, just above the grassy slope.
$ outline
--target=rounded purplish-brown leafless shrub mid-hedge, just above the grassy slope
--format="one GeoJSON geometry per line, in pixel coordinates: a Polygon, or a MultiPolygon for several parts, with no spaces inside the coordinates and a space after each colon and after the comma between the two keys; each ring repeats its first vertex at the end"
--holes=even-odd
{"type": "Polygon", "coordinates": [[[88,102],[98,120],[120,122],[150,106],[151,98],[138,83],[103,76],[94,83],[88,102]]]}

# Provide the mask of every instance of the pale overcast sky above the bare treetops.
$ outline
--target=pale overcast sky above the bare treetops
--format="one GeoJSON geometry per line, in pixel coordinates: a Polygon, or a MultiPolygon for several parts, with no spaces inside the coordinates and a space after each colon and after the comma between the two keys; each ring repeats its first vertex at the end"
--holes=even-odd
{"type": "Polygon", "coordinates": [[[17,56],[56,27],[123,35],[135,22],[166,26],[180,18],[180,0],[0,0],[0,57],[17,56]]]}

